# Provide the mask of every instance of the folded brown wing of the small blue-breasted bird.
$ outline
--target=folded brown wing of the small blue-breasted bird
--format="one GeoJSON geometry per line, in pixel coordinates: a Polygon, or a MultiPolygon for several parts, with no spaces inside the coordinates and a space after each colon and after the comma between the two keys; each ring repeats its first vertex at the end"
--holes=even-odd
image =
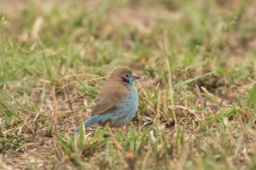
{"type": "Polygon", "coordinates": [[[96,99],[96,105],[91,111],[91,116],[106,114],[114,111],[121,99],[124,98],[124,93],[114,91],[112,93],[99,94],[96,99]]]}

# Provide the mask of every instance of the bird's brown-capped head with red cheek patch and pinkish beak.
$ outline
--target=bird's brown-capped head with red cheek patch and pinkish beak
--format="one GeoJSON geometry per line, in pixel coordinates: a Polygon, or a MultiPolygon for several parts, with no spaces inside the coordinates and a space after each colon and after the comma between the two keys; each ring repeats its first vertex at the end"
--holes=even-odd
{"type": "Polygon", "coordinates": [[[125,66],[118,66],[113,68],[109,73],[108,80],[118,80],[122,82],[126,87],[133,87],[135,80],[140,77],[137,74],[132,73],[131,69],[125,66]]]}

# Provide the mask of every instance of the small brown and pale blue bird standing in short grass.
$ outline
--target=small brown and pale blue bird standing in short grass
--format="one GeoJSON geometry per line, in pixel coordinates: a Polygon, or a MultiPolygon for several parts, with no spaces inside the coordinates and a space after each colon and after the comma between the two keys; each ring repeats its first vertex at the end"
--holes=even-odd
{"type": "MultiPolygon", "coordinates": [[[[139,78],[128,67],[113,68],[96,98],[90,119],[84,122],[84,127],[90,127],[95,123],[103,126],[107,122],[110,127],[122,127],[131,122],[137,112],[138,95],[135,80],[139,78]]],[[[74,133],[79,132],[79,129],[80,126],[74,133]]]]}

